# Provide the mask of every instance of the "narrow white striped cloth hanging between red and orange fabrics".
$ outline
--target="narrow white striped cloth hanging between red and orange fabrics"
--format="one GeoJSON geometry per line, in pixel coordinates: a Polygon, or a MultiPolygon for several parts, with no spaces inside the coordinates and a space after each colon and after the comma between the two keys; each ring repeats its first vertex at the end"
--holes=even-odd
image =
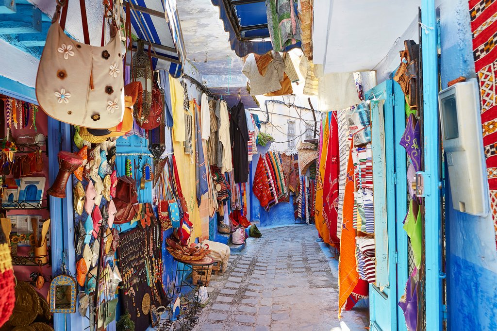
{"type": "Polygon", "coordinates": [[[337,111],[338,121],[338,157],[340,160],[340,172],[338,175],[338,205],[336,208],[336,237],[341,237],[341,225],[343,222],[343,198],[345,194],[345,181],[347,175],[347,163],[350,148],[350,131],[346,119],[346,113],[349,109],[337,111]]]}

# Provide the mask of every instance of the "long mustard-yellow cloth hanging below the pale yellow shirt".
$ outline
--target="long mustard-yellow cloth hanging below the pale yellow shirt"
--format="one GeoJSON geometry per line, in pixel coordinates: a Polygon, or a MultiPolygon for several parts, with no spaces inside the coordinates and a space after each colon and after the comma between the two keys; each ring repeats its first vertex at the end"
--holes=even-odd
{"type": "MultiPolygon", "coordinates": [[[[183,109],[182,104],[183,103],[181,102],[181,108],[183,109]]],[[[193,101],[190,101],[190,112],[192,114],[194,114],[193,107],[193,101]]],[[[183,116],[184,118],[184,110],[181,112],[181,116],[183,116]]],[[[194,137],[195,134],[194,130],[195,126],[192,125],[190,133],[192,137],[194,137]]],[[[185,129],[183,126],[183,135],[184,132],[185,129]]],[[[193,231],[191,233],[190,242],[194,242],[195,238],[198,238],[202,235],[202,227],[200,224],[200,215],[198,211],[196,196],[197,189],[195,186],[195,144],[192,144],[193,153],[191,155],[188,155],[185,154],[183,143],[179,142],[178,138],[176,138],[176,131],[174,131],[174,127],[172,130],[172,138],[172,149],[174,151],[174,158],[176,159],[179,182],[181,184],[181,190],[186,200],[186,204],[188,205],[188,215],[190,216],[190,222],[193,223],[193,231]]]]}

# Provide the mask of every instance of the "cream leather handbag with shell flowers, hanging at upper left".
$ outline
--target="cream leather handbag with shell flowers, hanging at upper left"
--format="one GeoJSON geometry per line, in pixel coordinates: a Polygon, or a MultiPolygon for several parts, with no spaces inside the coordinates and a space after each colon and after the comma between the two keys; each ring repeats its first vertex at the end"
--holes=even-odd
{"type": "Polygon", "coordinates": [[[38,67],[36,98],[47,115],[61,122],[93,129],[116,126],[124,114],[124,54],[114,15],[110,15],[109,43],[91,46],[84,0],[80,0],[83,44],[64,33],[67,1],[57,0],[38,67]]]}

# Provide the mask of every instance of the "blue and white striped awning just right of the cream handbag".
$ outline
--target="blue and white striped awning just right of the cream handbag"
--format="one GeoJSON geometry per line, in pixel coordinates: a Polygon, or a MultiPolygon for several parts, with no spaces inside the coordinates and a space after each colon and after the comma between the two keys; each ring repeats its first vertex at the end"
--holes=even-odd
{"type": "MultiPolygon", "coordinates": [[[[127,1],[123,6],[126,7],[127,1]]],[[[132,32],[152,45],[156,70],[166,70],[174,78],[181,74],[185,50],[181,27],[173,0],[130,0],[132,32]]]]}

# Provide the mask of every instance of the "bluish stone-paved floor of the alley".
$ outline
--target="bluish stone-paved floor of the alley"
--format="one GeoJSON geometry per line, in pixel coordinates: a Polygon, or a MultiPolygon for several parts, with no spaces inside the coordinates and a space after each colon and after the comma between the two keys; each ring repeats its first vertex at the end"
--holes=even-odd
{"type": "Polygon", "coordinates": [[[337,263],[329,263],[313,225],[260,230],[262,238],[232,255],[223,275],[212,275],[210,302],[194,330],[366,329],[366,308],[338,320],[337,263]]]}

